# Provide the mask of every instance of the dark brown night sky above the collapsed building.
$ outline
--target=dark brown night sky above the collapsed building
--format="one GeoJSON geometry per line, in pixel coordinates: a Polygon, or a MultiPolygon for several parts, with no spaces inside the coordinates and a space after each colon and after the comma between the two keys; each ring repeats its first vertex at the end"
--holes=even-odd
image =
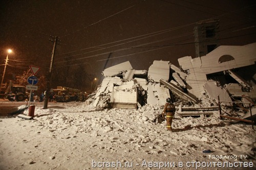
{"type": "MultiPolygon", "coordinates": [[[[134,69],[146,70],[154,60],[179,66],[178,58],[194,58],[193,31],[200,20],[220,19],[221,45],[253,43],[255,9],[256,2],[248,0],[1,1],[0,64],[11,48],[7,79],[31,64],[47,75],[49,38],[57,36],[53,81],[65,72],[69,82],[53,85],[90,86],[91,80],[83,81],[89,85],[72,82],[99,78],[110,53],[106,67],[129,60],[134,69]]],[[[1,65],[1,75],[3,70],[1,65]]]]}

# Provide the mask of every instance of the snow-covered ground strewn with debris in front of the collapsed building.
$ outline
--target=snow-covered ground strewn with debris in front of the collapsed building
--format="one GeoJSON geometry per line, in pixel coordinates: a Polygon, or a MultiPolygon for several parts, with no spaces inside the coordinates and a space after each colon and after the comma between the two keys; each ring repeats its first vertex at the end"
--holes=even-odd
{"type": "Polygon", "coordinates": [[[0,169],[159,169],[164,164],[174,169],[222,169],[220,164],[240,167],[236,162],[251,162],[255,169],[256,135],[250,124],[220,120],[218,111],[211,117],[176,115],[174,132],[169,132],[165,122],[152,122],[161,112],[148,105],[97,111],[86,103],[70,102],[36,107],[33,120],[2,118],[0,169]],[[202,167],[203,162],[211,167],[202,167]]]}

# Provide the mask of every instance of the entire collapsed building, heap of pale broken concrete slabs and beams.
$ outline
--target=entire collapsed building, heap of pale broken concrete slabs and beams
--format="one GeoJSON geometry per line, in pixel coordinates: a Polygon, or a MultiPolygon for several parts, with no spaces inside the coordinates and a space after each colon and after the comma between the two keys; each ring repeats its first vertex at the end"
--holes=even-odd
{"type": "MultiPolygon", "coordinates": [[[[163,106],[166,98],[176,105],[254,106],[256,99],[256,43],[222,45],[205,56],[154,61],[147,70],[133,69],[129,61],[103,70],[104,79],[95,94],[94,107],[138,108],[145,104],[163,106]],[[206,96],[206,97],[205,97],[206,96]]],[[[212,107],[214,108],[214,107],[212,107]]],[[[216,107],[215,107],[216,108],[216,107]]],[[[181,109],[179,109],[181,112],[181,109]]]]}

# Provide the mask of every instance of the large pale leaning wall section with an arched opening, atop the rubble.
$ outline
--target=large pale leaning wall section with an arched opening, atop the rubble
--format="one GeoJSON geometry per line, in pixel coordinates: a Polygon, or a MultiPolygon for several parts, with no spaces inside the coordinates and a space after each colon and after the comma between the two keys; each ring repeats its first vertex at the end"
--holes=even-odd
{"type": "Polygon", "coordinates": [[[256,61],[256,43],[244,46],[219,46],[206,56],[192,59],[191,56],[179,58],[180,67],[189,72],[186,78],[188,92],[198,98],[203,93],[203,84],[207,74],[220,72],[232,68],[253,65],[256,61]],[[222,60],[231,56],[227,60],[222,60]]]}

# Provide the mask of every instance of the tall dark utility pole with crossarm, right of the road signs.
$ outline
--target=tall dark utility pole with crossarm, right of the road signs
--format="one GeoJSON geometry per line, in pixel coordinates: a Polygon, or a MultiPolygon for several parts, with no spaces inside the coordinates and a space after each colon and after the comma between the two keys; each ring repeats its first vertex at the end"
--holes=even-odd
{"type": "MultiPolygon", "coordinates": [[[[53,38],[53,37],[52,37],[53,38]]],[[[53,41],[49,39],[50,41],[53,41]]],[[[53,61],[54,61],[54,56],[55,56],[55,49],[56,49],[56,44],[57,44],[58,37],[56,36],[54,39],[53,43],[53,50],[52,50],[52,59],[51,59],[51,65],[50,65],[50,70],[49,70],[49,76],[47,80],[47,88],[46,88],[46,96],[45,96],[45,101],[44,101],[44,108],[48,108],[48,101],[49,101],[49,96],[50,96],[50,88],[51,88],[51,82],[52,82],[52,66],[53,66],[53,61]]]]}

